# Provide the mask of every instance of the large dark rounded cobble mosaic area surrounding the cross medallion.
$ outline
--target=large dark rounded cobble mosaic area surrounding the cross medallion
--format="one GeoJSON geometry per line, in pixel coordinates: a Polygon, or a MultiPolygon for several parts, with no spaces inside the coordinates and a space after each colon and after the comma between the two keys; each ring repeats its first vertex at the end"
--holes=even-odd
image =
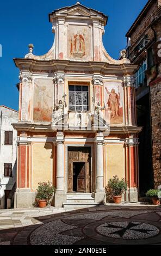
{"type": "MultiPolygon", "coordinates": [[[[159,212],[160,213],[160,212],[159,212]]],[[[34,229],[31,245],[152,245],[161,241],[154,211],[95,211],[60,216],[34,229]]]]}

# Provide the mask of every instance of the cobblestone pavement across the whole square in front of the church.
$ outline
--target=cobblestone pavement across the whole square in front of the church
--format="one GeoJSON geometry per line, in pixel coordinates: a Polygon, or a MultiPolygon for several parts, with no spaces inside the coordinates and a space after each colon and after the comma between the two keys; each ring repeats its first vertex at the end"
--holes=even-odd
{"type": "Polygon", "coordinates": [[[0,210],[0,245],[161,245],[161,206],[0,210]]]}

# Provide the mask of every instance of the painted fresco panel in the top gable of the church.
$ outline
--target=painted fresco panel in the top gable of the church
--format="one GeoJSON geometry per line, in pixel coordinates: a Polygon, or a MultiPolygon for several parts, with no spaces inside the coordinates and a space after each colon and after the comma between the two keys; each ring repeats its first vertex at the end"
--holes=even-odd
{"type": "Polygon", "coordinates": [[[86,26],[67,27],[67,58],[91,60],[91,29],[86,26]]]}

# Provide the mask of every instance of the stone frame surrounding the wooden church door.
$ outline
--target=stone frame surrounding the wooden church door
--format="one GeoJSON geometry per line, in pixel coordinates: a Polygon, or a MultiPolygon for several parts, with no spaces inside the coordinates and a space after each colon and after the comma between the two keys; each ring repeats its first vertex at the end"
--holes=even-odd
{"type": "Polygon", "coordinates": [[[65,144],[65,192],[67,192],[67,178],[68,178],[68,149],[69,147],[76,147],[76,148],[80,148],[80,147],[89,147],[90,148],[90,191],[91,193],[94,192],[95,190],[95,186],[94,186],[94,182],[95,182],[95,173],[94,173],[94,166],[95,166],[95,162],[94,162],[94,142],[89,142],[89,143],[82,143],[82,144],[65,144]]]}

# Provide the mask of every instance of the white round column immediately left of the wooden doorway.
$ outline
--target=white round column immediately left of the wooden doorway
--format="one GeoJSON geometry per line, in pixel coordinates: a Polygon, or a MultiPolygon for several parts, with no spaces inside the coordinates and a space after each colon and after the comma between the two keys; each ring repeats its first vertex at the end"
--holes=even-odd
{"type": "Polygon", "coordinates": [[[54,196],[54,206],[62,207],[66,202],[64,182],[64,133],[57,132],[57,186],[54,196]]]}

